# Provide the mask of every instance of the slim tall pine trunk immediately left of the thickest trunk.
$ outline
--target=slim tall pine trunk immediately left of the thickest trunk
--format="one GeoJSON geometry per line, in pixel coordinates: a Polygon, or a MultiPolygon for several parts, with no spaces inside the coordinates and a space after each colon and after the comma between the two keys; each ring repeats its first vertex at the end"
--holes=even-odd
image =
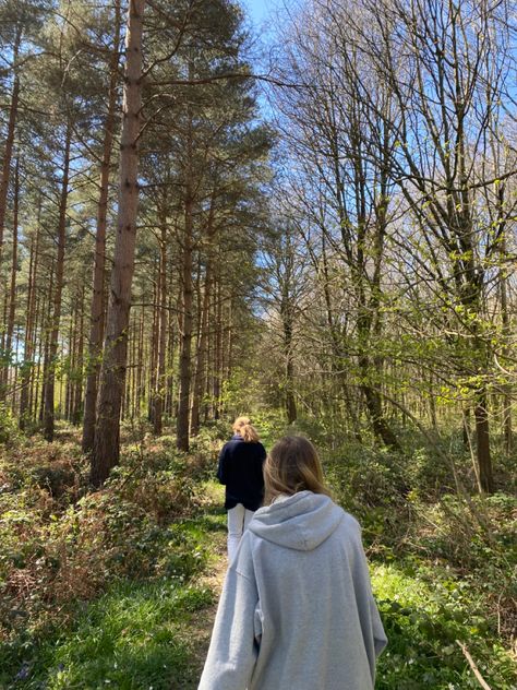
{"type": "Polygon", "coordinates": [[[117,86],[119,83],[119,43],[121,29],[120,0],[115,3],[113,53],[110,63],[108,114],[100,164],[100,193],[97,209],[97,229],[95,234],[95,257],[93,294],[91,306],[91,325],[88,338],[88,368],[84,396],[83,452],[89,453],[95,440],[95,407],[97,402],[97,381],[100,370],[100,354],[104,335],[104,273],[106,265],[106,225],[109,193],[109,169],[113,148],[116,127],[117,86]]]}

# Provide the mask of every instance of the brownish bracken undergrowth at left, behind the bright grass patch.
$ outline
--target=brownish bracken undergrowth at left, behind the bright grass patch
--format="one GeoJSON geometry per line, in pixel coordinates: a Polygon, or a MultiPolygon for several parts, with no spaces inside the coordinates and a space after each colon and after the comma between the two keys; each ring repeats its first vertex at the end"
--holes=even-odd
{"type": "MultiPolygon", "coordinates": [[[[203,533],[187,520],[200,508],[194,475],[191,459],[167,443],[128,451],[94,493],[86,492],[87,465],[67,444],[36,442],[1,461],[0,685],[27,650],[39,659],[49,631],[108,586],[154,586],[164,578],[188,586],[207,559],[203,533]]],[[[68,677],[52,682],[69,687],[68,677]]]]}

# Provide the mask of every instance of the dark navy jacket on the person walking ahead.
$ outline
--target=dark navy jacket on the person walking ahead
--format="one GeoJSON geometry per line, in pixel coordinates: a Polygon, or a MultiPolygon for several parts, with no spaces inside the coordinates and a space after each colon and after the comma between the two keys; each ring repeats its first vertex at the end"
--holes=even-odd
{"type": "Polygon", "coordinates": [[[226,485],[225,508],[229,510],[242,503],[248,510],[256,510],[264,500],[262,466],[266,459],[261,442],[247,443],[236,433],[225,443],[219,454],[217,478],[226,485]]]}

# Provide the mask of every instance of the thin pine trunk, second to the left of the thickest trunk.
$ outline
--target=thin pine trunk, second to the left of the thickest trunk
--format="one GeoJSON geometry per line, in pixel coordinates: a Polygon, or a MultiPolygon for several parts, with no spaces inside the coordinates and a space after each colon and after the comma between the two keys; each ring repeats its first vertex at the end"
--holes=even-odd
{"type": "Polygon", "coordinates": [[[56,279],[52,300],[52,316],[49,321],[50,342],[47,354],[44,381],[44,436],[47,441],[53,441],[53,396],[56,381],[56,359],[58,356],[59,325],[61,320],[61,299],[64,278],[64,246],[67,241],[67,203],[69,197],[70,145],[72,127],[69,122],[63,154],[63,176],[61,181],[61,197],[59,201],[58,251],[56,258],[56,279]]]}

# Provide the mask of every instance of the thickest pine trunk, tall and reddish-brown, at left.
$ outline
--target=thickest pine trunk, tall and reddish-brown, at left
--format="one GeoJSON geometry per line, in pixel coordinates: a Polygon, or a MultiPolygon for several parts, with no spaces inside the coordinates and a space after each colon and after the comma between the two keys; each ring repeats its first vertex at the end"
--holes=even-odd
{"type": "Polygon", "coordinates": [[[128,355],[131,284],[134,272],[139,205],[139,135],[142,108],[142,33],[145,0],[132,0],[128,10],[123,123],[120,143],[119,207],[107,333],[100,370],[97,427],[91,481],[99,487],[119,462],[120,408],[128,355]]]}

